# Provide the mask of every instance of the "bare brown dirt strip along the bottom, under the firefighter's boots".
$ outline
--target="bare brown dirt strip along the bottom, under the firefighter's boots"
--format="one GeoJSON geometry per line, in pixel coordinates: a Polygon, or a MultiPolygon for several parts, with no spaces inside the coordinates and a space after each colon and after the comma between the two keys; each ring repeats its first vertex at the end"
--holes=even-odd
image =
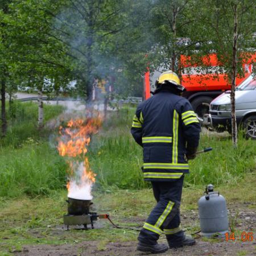
{"type": "MultiPolygon", "coordinates": [[[[211,243],[197,240],[195,246],[185,246],[180,249],[170,249],[159,255],[256,255],[256,242],[219,242],[211,243]]],[[[70,246],[26,246],[23,252],[16,255],[26,256],[77,256],[77,255],[148,255],[136,250],[136,242],[109,243],[104,250],[97,249],[97,242],[83,242],[70,246]]]]}

